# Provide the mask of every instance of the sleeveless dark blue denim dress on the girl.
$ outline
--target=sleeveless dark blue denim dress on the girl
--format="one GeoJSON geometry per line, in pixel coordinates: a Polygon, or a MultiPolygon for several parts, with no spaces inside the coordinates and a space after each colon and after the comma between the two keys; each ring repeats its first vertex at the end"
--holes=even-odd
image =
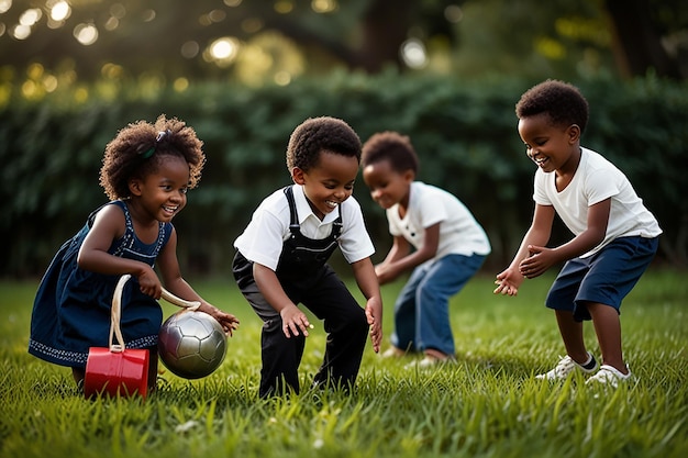
{"type": "MultiPolygon", "coordinates": [[[[154,267],[157,255],[169,241],[171,223],[160,222],[157,239],[145,244],[134,233],[124,201],[115,200],[106,205],[122,209],[126,221],[124,235],[113,242],[108,253],[154,267]]],[[[38,286],[29,353],[46,361],[85,368],[90,347],[108,347],[112,294],[120,277],[84,270],[77,265],[79,248],[103,206],[92,212],[84,227],[59,248],[38,286]]],[[[120,327],[126,347],[156,346],[162,322],[158,302],[142,293],[138,282],[132,278],[122,292],[120,327]]]]}

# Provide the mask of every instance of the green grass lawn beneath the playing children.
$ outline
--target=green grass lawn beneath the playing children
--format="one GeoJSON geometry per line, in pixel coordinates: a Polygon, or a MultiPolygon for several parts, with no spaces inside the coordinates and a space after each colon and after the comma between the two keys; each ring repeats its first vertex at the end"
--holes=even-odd
{"type": "MultiPolygon", "coordinates": [[[[452,305],[459,364],[451,369],[407,370],[409,359],[382,360],[368,346],[354,394],[303,390],[267,401],[256,393],[260,323],[231,281],[193,282],[242,320],[223,365],[195,381],[164,372],[145,401],[87,401],[69,369],[30,356],[36,283],[0,282],[0,456],[684,457],[686,272],[651,270],[626,298],[624,351],[637,378],[615,391],[534,379],[564,353],[542,305],[551,280],[528,281],[517,298],[493,295],[490,278],[469,283],[452,305]]],[[[384,289],[387,336],[400,286],[384,289]]],[[[304,387],[324,347],[313,322],[304,387]]],[[[586,339],[599,355],[590,325],[586,339]]]]}

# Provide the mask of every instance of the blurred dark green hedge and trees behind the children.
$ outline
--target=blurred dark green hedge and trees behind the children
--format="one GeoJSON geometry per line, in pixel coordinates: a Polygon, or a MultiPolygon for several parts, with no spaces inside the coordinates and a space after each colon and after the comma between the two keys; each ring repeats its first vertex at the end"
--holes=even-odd
{"type": "MultiPolygon", "coordinates": [[[[679,0],[0,0],[0,276],[43,272],[106,201],[104,145],[160,113],[192,125],[208,155],[175,220],[185,271],[229,275],[255,205],[289,182],[289,134],[324,114],[363,141],[410,135],[419,178],[474,211],[496,270],[533,206],[513,105],[545,78],[582,89],[584,145],[659,217],[658,260],[685,267],[687,52],[679,0]]],[[[355,196],[381,257],[384,212],[360,180],[355,196]]],[[[567,237],[559,226],[553,242],[567,237]]]]}

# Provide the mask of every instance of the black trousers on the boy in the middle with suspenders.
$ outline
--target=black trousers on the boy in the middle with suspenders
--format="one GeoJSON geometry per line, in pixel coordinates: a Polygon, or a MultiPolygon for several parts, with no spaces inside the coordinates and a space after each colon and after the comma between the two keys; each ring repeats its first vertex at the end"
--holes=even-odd
{"type": "MultiPolygon", "coordinates": [[[[241,255],[240,255],[241,256],[241,255]]],[[[263,320],[260,389],[262,398],[280,395],[286,389],[299,392],[298,369],[303,356],[306,337],[287,338],[279,313],[267,303],[246,266],[237,266],[237,284],[256,314],[263,320]],[[243,276],[242,276],[243,272],[243,276]]],[[[366,346],[368,322],[364,309],[356,302],[344,282],[330,266],[315,275],[298,280],[280,279],[295,304],[302,303],[323,320],[328,333],[324,358],[313,379],[314,386],[352,388],[358,376],[366,346]]]]}

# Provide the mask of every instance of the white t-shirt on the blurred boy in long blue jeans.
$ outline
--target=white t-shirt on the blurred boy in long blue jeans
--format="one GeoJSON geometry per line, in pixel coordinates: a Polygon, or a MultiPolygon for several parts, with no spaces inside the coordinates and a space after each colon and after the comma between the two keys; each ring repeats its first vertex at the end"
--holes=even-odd
{"type": "Polygon", "coordinates": [[[488,255],[491,250],[487,234],[454,194],[422,181],[413,181],[409,191],[409,208],[399,217],[399,204],[387,210],[389,233],[402,236],[417,249],[425,238],[425,228],[440,224],[440,245],[433,259],[446,255],[488,255]]]}

